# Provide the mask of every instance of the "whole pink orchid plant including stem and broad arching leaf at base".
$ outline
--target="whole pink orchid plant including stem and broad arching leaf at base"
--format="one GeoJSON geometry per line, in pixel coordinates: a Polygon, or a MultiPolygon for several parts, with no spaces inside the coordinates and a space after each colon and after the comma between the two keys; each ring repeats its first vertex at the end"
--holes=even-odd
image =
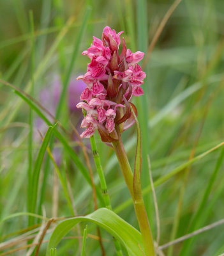
{"type": "MultiPolygon", "coordinates": [[[[77,78],[87,84],[80,96],[81,102],[77,104],[77,108],[81,108],[84,113],[81,127],[86,128],[80,136],[89,138],[91,142],[105,208],[100,208],[87,216],[73,217],[59,223],[50,237],[48,256],[50,250],[80,221],[96,223],[110,232],[114,237],[117,256],[123,256],[123,248],[129,256],[156,255],[140,183],[142,159],[140,126],[137,120],[137,108],[131,103],[133,96],[144,94],[141,85],[144,83],[146,73],[138,65],[144,57],[144,52],[131,52],[126,48],[124,38],[123,48],[119,51],[122,33],[123,31],[116,33],[107,26],[103,29],[101,40],[93,36],[91,47],[82,52],[91,60],[87,65],[87,72],[77,78]],[[133,124],[137,126],[137,147],[135,168],[132,171],[121,134],[133,124]],[[94,132],[97,129],[101,141],[112,146],[116,152],[133,200],[140,232],[112,211],[107,182],[94,139],[94,132]],[[121,245],[124,247],[122,248],[121,245]]],[[[102,255],[105,255],[103,250],[102,255]]]]}

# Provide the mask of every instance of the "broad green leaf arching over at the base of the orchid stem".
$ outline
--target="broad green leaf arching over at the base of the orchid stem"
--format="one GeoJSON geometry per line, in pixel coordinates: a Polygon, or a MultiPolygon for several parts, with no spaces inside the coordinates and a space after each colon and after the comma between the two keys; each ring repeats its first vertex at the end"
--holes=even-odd
{"type": "Polygon", "coordinates": [[[143,244],[140,232],[114,212],[106,208],[101,208],[87,216],[70,218],[59,223],[50,237],[47,256],[50,256],[50,248],[55,248],[71,228],[80,221],[90,221],[107,230],[107,232],[116,237],[124,245],[129,256],[144,255],[142,252],[143,244]]]}

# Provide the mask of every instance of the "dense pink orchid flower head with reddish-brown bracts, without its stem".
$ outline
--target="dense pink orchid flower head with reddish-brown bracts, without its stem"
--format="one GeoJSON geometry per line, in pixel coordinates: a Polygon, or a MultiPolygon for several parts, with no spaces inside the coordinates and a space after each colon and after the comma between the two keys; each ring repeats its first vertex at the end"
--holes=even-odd
{"type": "Polygon", "coordinates": [[[86,130],[81,137],[89,138],[98,129],[102,141],[112,142],[118,139],[117,131],[123,132],[135,122],[131,108],[136,115],[137,109],[130,100],[133,95],[144,93],[140,85],[146,73],[137,64],[144,52],[126,49],[123,38],[119,54],[122,33],[106,26],[102,40],[93,36],[91,47],[82,52],[91,62],[87,65],[87,73],[77,78],[87,84],[80,97],[83,102],[77,104],[77,108],[85,111],[81,127],[86,130]]]}

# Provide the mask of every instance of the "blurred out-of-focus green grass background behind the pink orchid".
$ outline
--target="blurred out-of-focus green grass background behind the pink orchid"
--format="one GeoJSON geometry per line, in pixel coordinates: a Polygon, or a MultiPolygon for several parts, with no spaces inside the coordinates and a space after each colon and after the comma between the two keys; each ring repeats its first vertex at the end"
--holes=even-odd
{"type": "MultiPolygon", "coordinates": [[[[86,72],[88,60],[81,52],[89,47],[93,35],[101,37],[105,26],[110,26],[117,32],[123,30],[126,44],[131,51],[147,52],[161,20],[173,3],[170,0],[0,1],[1,79],[27,90],[34,99],[40,100],[41,90],[49,88],[55,76],[61,77],[66,84],[67,78],[71,79],[86,72]],[[83,35],[79,38],[87,6],[90,6],[91,10],[86,29],[81,31],[83,35]],[[33,11],[34,21],[33,51],[30,10],[33,11]],[[66,26],[71,17],[71,26],[66,26]],[[32,74],[34,83],[31,83],[32,74]]],[[[136,102],[144,140],[144,188],[149,184],[147,154],[151,157],[155,181],[223,141],[223,13],[224,2],[221,0],[181,1],[165,24],[150,54],[145,68],[147,79],[142,86],[145,95],[136,102]]],[[[15,95],[11,88],[0,84],[0,90],[0,220],[3,220],[15,212],[27,212],[27,193],[31,186],[29,168],[34,164],[41,140],[33,141],[33,154],[30,156],[29,124],[32,118],[35,120],[36,114],[30,114],[27,104],[15,95]]],[[[57,118],[71,131],[67,100],[63,100],[57,118]]],[[[46,102],[41,104],[46,106],[46,102]]],[[[81,113],[80,116],[72,116],[73,124],[77,125],[81,118],[81,113]]],[[[33,133],[36,130],[37,127],[33,123],[33,133]]],[[[126,131],[123,137],[133,164],[135,127],[126,131]]],[[[124,220],[137,227],[132,205],[122,206],[130,196],[114,153],[107,145],[100,143],[98,136],[96,139],[112,206],[119,209],[118,214],[124,220]]],[[[84,154],[75,140],[68,138],[67,141],[74,147],[80,161],[86,165],[84,154]]],[[[87,140],[84,140],[84,143],[89,147],[87,140]]],[[[56,141],[54,147],[62,148],[61,172],[64,179],[68,177],[77,214],[92,212],[94,205],[90,186],[68,152],[63,149],[63,145],[56,141]]],[[[98,184],[91,150],[88,153],[94,180],[98,184]]],[[[219,148],[156,187],[160,211],[160,245],[224,218],[223,154],[222,148],[219,148]],[[211,177],[214,177],[214,180],[211,177]],[[203,201],[207,186],[210,185],[211,191],[203,201]]],[[[43,205],[42,209],[39,207],[41,211],[38,213],[46,214],[50,218],[54,205],[54,166],[49,162],[49,166],[45,167],[45,161],[46,159],[38,179],[38,204],[43,205]],[[40,198],[46,168],[49,175],[43,198],[40,198]]],[[[153,199],[149,193],[146,194],[147,211],[156,237],[153,199]]],[[[98,204],[100,207],[100,202],[98,204]]],[[[57,216],[71,216],[61,184],[57,216]]],[[[1,243],[13,237],[16,239],[27,231],[24,230],[28,227],[27,216],[11,218],[0,225],[1,243]]],[[[80,228],[82,233],[84,226],[80,225],[80,228]]],[[[196,236],[191,240],[190,246],[186,242],[175,244],[164,250],[164,253],[220,255],[224,252],[223,228],[224,226],[220,225],[196,236]]],[[[94,226],[90,225],[88,230],[90,234],[97,236],[94,226]]],[[[77,234],[77,230],[71,232],[71,236],[77,234]]],[[[105,239],[103,243],[107,255],[115,255],[111,237],[103,230],[101,234],[105,239]]],[[[48,239],[49,234],[46,237],[48,239]]],[[[4,250],[0,247],[0,255],[24,244],[26,242],[11,245],[4,250]]],[[[46,243],[43,243],[40,255],[45,255],[45,249],[46,243]]],[[[64,240],[57,250],[57,255],[79,255],[78,253],[77,239],[64,240]]],[[[100,253],[98,241],[89,237],[86,254],[100,253]]],[[[10,255],[26,255],[26,251],[11,252],[10,255]]]]}

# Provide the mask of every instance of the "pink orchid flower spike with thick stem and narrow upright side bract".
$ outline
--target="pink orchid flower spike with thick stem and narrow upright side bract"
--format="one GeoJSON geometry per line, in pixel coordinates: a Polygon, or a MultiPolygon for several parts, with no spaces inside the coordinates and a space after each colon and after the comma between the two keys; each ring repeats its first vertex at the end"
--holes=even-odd
{"type": "Polygon", "coordinates": [[[142,250],[145,255],[153,256],[153,237],[140,186],[140,129],[136,117],[137,109],[130,102],[131,97],[144,93],[141,85],[144,83],[146,73],[138,65],[144,57],[144,52],[131,52],[126,48],[123,38],[123,48],[119,54],[122,33],[123,31],[116,33],[107,26],[103,29],[102,40],[93,36],[91,47],[82,52],[91,62],[87,65],[86,74],[77,78],[87,84],[80,97],[82,102],[77,104],[77,108],[84,109],[81,127],[86,128],[80,136],[91,138],[98,129],[101,140],[112,143],[133,199],[144,244],[142,250]],[[133,173],[121,133],[135,122],[138,126],[138,145],[133,173]]]}

